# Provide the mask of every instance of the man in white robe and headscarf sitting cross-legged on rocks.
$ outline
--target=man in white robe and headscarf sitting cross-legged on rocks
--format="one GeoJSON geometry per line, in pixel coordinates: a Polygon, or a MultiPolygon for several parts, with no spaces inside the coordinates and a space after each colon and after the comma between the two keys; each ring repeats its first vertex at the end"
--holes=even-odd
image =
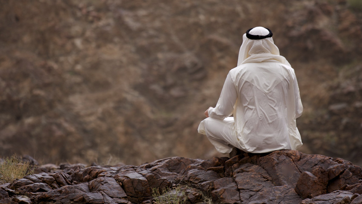
{"type": "Polygon", "coordinates": [[[303,112],[298,83],[271,36],[263,27],[243,35],[237,67],[230,70],[216,107],[205,111],[198,127],[220,153],[230,153],[233,147],[267,153],[302,146],[295,121],[303,112]]]}

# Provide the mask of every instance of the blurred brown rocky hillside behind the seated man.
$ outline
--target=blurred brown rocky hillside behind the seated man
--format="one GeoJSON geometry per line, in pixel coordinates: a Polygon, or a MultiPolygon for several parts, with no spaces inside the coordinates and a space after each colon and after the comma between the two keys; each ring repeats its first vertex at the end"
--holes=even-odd
{"type": "Polygon", "coordinates": [[[295,69],[300,151],[361,165],[359,0],[1,0],[0,156],[221,156],[197,127],[255,26],[295,69]]]}

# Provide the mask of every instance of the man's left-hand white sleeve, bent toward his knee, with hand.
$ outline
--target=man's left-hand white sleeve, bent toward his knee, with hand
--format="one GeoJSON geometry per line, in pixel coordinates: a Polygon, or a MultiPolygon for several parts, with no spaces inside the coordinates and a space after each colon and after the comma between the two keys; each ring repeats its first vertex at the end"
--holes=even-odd
{"type": "Polygon", "coordinates": [[[221,91],[218,103],[215,108],[208,110],[209,117],[224,120],[224,118],[231,116],[234,105],[237,99],[237,92],[235,83],[232,80],[232,75],[229,74],[226,77],[223,89],[221,91]]]}

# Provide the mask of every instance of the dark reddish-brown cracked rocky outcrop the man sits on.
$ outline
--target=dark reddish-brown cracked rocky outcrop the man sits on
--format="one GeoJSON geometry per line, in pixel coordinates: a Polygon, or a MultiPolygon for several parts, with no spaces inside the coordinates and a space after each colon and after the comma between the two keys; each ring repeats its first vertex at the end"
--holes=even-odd
{"type": "Polygon", "coordinates": [[[152,193],[164,189],[200,204],[361,203],[362,168],[296,150],[210,160],[173,157],[140,166],[76,165],[5,183],[0,203],[151,204],[152,193]]]}

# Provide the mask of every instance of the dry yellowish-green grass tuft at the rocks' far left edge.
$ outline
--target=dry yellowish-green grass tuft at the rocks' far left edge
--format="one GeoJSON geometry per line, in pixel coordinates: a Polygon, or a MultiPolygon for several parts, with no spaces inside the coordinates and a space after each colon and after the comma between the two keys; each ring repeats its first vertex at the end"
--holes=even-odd
{"type": "Polygon", "coordinates": [[[29,162],[22,161],[16,155],[4,158],[4,161],[0,163],[0,184],[32,174],[34,170],[30,170],[30,167],[29,162]]]}

